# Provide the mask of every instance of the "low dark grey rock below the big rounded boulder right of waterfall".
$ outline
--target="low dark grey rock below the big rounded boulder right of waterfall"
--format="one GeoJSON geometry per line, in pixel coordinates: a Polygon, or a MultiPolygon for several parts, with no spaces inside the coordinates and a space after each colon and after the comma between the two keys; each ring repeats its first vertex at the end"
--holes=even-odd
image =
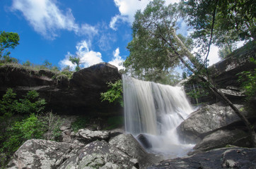
{"type": "Polygon", "coordinates": [[[232,144],[233,146],[250,146],[248,134],[243,130],[218,130],[204,137],[202,142],[194,146],[196,151],[208,151],[232,144]]]}

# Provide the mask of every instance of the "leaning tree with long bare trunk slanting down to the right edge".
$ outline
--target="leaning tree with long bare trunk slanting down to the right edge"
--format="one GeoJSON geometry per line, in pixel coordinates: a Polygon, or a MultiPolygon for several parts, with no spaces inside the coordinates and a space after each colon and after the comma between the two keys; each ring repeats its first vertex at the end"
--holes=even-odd
{"type": "MultiPolygon", "coordinates": [[[[181,8],[182,6],[178,6],[178,4],[164,6],[164,1],[162,0],[151,1],[149,5],[146,6],[143,13],[141,13],[141,11],[137,11],[136,13],[132,25],[133,37],[136,38],[135,40],[142,39],[142,42],[146,40],[147,42],[154,42],[154,44],[161,44],[161,47],[158,46],[154,48],[153,51],[156,51],[156,53],[157,51],[161,52],[163,47],[166,54],[168,54],[170,61],[179,59],[188,70],[194,73],[194,75],[197,75],[202,82],[205,82],[207,87],[209,87],[216,96],[219,96],[231,106],[233,111],[241,118],[241,120],[243,120],[245,125],[247,125],[252,143],[256,146],[256,134],[252,125],[238,108],[236,108],[231,101],[229,101],[226,96],[215,87],[209,77],[206,65],[194,56],[190,52],[190,49],[188,49],[178,35],[176,35],[176,29],[178,28],[177,21],[182,15],[179,11],[181,8]]],[[[138,43],[137,45],[143,46],[144,44],[138,43]]],[[[145,56],[146,54],[151,54],[151,51],[152,50],[148,51],[145,48],[145,56]]],[[[134,51],[130,52],[130,55],[134,56],[134,51]]]]}

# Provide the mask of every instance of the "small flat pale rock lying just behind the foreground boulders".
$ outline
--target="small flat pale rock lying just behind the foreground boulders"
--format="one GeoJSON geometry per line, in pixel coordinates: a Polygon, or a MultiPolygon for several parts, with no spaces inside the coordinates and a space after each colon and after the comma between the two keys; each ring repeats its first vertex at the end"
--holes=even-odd
{"type": "Polygon", "coordinates": [[[88,129],[80,129],[76,133],[76,139],[83,144],[94,142],[95,140],[108,140],[110,139],[110,132],[107,131],[91,131],[88,129]]]}

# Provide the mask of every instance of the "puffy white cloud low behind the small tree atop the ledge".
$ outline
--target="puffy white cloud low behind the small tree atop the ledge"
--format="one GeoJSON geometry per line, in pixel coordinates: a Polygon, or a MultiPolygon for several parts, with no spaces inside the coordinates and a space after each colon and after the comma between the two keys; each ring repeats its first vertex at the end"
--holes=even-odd
{"type": "MultiPolygon", "coordinates": [[[[81,60],[81,68],[87,68],[91,65],[95,65],[97,63],[103,62],[102,56],[100,52],[92,51],[91,43],[86,41],[81,41],[76,44],[76,56],[80,57],[81,60]]],[[[59,65],[61,68],[65,68],[67,65],[70,66],[72,70],[76,68],[76,65],[69,61],[69,56],[74,56],[68,52],[65,58],[62,61],[59,61],[59,65]]]]}

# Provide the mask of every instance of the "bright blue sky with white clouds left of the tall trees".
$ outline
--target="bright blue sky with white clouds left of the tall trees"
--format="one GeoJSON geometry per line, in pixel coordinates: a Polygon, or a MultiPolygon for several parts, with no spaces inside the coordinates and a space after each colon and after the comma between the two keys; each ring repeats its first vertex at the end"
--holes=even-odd
{"type": "MultiPolygon", "coordinates": [[[[178,1],[168,0],[166,4],[178,1]]],[[[20,35],[20,44],[11,56],[21,63],[41,64],[47,60],[60,68],[74,68],[68,56],[79,54],[83,67],[103,61],[119,66],[129,56],[126,46],[132,40],[134,13],[148,3],[149,0],[1,0],[1,31],[20,35]]],[[[212,51],[216,55],[217,49],[212,51]]]]}

